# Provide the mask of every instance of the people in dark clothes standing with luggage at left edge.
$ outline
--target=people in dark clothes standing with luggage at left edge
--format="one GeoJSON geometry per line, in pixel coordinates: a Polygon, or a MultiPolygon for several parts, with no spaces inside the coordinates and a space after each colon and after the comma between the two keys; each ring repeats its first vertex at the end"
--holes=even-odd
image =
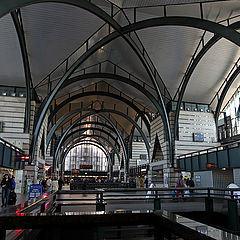
{"type": "Polygon", "coordinates": [[[16,187],[16,182],[15,182],[15,177],[12,176],[10,178],[10,176],[8,174],[5,174],[3,176],[3,179],[1,181],[1,187],[2,187],[2,206],[1,207],[7,207],[7,205],[9,204],[15,204],[16,203],[16,197],[13,200],[13,202],[9,202],[9,197],[10,194],[12,193],[12,195],[16,196],[14,190],[16,187]]]}

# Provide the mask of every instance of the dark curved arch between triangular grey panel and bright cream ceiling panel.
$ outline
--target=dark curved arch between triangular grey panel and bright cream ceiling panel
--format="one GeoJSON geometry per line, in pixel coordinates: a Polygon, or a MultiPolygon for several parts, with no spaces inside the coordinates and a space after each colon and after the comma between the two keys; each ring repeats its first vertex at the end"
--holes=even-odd
{"type": "MultiPolygon", "coordinates": [[[[240,28],[240,21],[232,23],[229,25],[229,28],[232,29],[239,29],[240,28]]],[[[176,106],[176,112],[175,112],[175,119],[174,119],[174,136],[175,138],[178,138],[178,119],[179,119],[179,113],[180,113],[180,107],[183,99],[183,95],[185,93],[185,90],[187,88],[187,85],[190,81],[190,78],[192,76],[192,73],[194,72],[195,68],[197,67],[200,60],[204,57],[204,55],[210,50],[211,47],[213,47],[222,37],[219,35],[214,35],[207,43],[206,45],[201,49],[201,51],[197,54],[197,56],[194,58],[190,68],[188,69],[186,76],[184,78],[181,90],[179,92],[179,97],[177,101],[176,106]]],[[[218,119],[218,118],[217,118],[218,119]]]]}

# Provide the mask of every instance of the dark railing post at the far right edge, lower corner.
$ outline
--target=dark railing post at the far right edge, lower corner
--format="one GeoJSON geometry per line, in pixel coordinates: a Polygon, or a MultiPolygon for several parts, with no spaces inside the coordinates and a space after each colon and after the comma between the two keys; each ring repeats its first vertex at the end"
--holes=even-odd
{"type": "Polygon", "coordinates": [[[239,231],[238,206],[236,199],[228,199],[228,227],[232,231],[239,231]]]}

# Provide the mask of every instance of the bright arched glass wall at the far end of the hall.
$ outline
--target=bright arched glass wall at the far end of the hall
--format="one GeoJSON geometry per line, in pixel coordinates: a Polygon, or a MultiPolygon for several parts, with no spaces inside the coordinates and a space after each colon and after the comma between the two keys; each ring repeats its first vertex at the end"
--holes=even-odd
{"type": "Polygon", "coordinates": [[[98,147],[82,144],[71,149],[65,159],[65,171],[79,169],[84,171],[107,172],[108,159],[98,147]]]}

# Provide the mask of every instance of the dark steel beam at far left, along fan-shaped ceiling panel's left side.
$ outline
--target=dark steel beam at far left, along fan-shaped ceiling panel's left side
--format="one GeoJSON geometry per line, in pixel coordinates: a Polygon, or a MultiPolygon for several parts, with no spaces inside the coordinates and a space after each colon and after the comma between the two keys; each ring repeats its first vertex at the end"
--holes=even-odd
{"type": "Polygon", "coordinates": [[[17,35],[18,35],[18,40],[19,40],[19,45],[21,48],[21,54],[22,54],[22,60],[23,60],[25,83],[26,83],[24,133],[29,133],[30,118],[31,118],[31,85],[32,85],[31,70],[30,70],[30,65],[28,61],[28,53],[27,53],[27,46],[26,46],[26,41],[24,37],[23,25],[19,21],[16,10],[11,12],[11,16],[13,19],[13,23],[14,23],[17,35]]]}

